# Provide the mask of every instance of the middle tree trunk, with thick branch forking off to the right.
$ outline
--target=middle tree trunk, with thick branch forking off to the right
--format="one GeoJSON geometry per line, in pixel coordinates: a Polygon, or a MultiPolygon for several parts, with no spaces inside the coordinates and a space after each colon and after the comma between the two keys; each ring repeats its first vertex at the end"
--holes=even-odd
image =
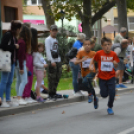
{"type": "Polygon", "coordinates": [[[92,36],[92,15],[91,15],[91,0],[83,0],[83,21],[82,32],[86,34],[86,37],[92,36]]]}

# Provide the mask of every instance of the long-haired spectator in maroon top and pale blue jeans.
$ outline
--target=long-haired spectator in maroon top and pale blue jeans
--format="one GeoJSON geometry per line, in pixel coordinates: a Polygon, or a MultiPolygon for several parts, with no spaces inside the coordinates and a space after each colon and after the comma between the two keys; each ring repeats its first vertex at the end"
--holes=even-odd
{"type": "Polygon", "coordinates": [[[22,30],[19,34],[18,44],[19,50],[17,52],[16,90],[19,105],[25,105],[27,104],[27,102],[22,99],[22,95],[24,88],[28,82],[26,68],[26,53],[28,53],[31,50],[31,32],[30,29],[25,25],[23,25],[22,30]]]}

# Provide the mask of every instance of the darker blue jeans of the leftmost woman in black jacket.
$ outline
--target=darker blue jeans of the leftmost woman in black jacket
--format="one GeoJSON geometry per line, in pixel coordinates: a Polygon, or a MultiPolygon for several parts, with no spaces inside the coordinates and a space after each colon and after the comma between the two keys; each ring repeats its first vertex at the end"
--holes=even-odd
{"type": "Polygon", "coordinates": [[[15,64],[11,65],[11,72],[1,72],[0,97],[3,100],[3,94],[6,94],[6,101],[11,101],[11,85],[14,77],[15,64]]]}

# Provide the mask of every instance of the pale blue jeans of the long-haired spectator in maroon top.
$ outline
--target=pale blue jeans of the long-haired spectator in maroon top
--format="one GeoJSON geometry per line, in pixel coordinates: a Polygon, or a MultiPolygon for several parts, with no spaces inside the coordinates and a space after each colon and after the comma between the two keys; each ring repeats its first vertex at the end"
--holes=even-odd
{"type": "Polygon", "coordinates": [[[26,68],[26,61],[23,62],[23,70],[24,73],[20,74],[20,68],[19,68],[19,62],[17,61],[17,67],[16,67],[16,77],[17,77],[17,83],[16,83],[16,91],[17,96],[22,97],[25,86],[28,82],[28,75],[27,75],[27,68],[26,68]]]}

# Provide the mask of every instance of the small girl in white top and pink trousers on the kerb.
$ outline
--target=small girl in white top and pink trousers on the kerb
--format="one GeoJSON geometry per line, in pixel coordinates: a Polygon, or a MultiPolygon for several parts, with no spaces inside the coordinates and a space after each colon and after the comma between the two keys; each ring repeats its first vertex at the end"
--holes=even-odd
{"type": "Polygon", "coordinates": [[[43,58],[42,53],[44,52],[44,44],[38,45],[38,52],[33,53],[33,64],[35,67],[35,73],[37,77],[37,86],[36,86],[36,94],[37,94],[37,101],[38,102],[44,102],[43,98],[40,96],[40,87],[42,80],[44,78],[44,70],[45,67],[47,67],[47,64],[43,58]]]}

